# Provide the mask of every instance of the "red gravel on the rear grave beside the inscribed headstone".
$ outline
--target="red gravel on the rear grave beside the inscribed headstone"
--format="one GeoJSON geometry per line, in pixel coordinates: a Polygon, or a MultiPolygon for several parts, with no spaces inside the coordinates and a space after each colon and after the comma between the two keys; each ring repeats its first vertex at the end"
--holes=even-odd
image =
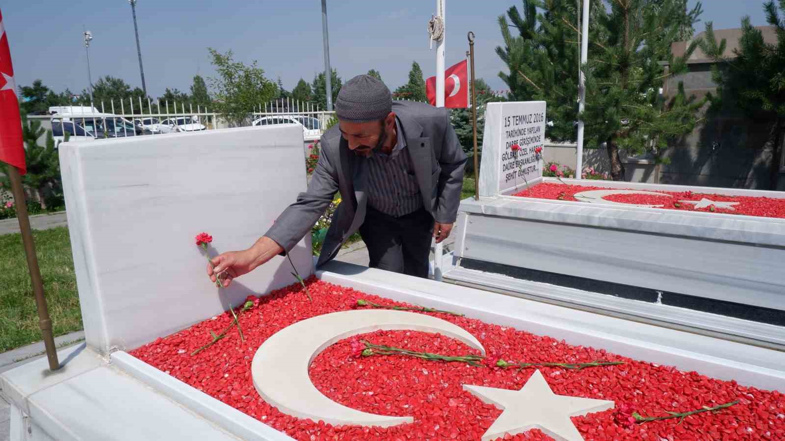
{"type": "MultiPolygon", "coordinates": [[[[573,195],[575,195],[575,193],[588,190],[612,190],[612,188],[593,187],[590,185],[542,183],[537,184],[528,190],[520,191],[513,196],[577,201],[578,199],[575,199],[573,195]]],[[[627,190],[635,190],[635,188],[627,188],[627,190]]],[[[673,198],[656,195],[611,195],[606,196],[604,199],[612,202],[625,202],[630,204],[663,205],[663,207],[659,208],[669,210],[710,212],[711,210],[708,207],[696,209],[694,208],[695,204],[680,202],[699,201],[703,198],[706,198],[717,202],[739,202],[739,205],[733,206],[734,210],[715,208],[716,213],[746,214],[747,216],[760,217],[785,217],[785,193],[783,193],[783,199],[774,199],[755,198],[750,196],[726,196],[717,195],[714,193],[692,193],[692,191],[647,191],[654,191],[656,193],[671,195],[673,198]],[[675,206],[674,204],[679,204],[680,206],[675,206]]]]}

